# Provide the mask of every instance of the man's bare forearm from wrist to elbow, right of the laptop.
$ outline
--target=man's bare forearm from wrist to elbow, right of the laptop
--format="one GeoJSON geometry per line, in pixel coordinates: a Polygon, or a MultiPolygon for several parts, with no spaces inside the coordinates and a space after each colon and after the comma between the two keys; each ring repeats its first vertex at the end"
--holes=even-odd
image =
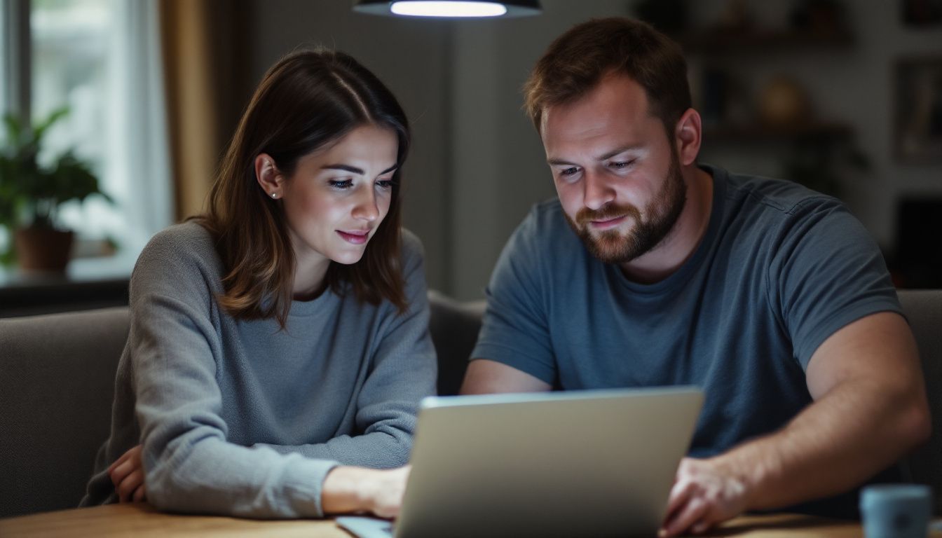
{"type": "Polygon", "coordinates": [[[780,508],[866,481],[924,440],[926,423],[921,392],[847,381],[779,432],[708,461],[742,482],[747,509],[780,508]]]}

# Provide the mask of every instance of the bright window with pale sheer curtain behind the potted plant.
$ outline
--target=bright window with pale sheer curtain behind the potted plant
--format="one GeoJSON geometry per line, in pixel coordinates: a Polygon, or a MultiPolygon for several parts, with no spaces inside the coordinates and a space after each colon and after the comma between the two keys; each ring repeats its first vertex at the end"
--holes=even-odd
{"type": "Polygon", "coordinates": [[[63,206],[59,220],[76,231],[77,256],[113,240],[124,267],[171,221],[157,1],[7,0],[0,8],[9,33],[0,40],[3,77],[28,91],[3,85],[0,103],[34,122],[69,107],[40,158],[73,148],[115,204],[89,198],[63,206]]]}

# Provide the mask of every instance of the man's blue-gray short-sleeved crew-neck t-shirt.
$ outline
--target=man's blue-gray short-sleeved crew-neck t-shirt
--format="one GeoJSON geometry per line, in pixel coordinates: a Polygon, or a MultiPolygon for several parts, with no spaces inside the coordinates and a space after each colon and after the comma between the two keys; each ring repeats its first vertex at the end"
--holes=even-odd
{"type": "Polygon", "coordinates": [[[900,312],[896,290],[837,200],[703,168],[707,232],[653,285],[588,253],[559,201],[536,205],[497,262],[472,356],[562,389],[698,385],[696,457],[784,426],[811,402],[804,369],[820,344],[855,319],[900,312]]]}

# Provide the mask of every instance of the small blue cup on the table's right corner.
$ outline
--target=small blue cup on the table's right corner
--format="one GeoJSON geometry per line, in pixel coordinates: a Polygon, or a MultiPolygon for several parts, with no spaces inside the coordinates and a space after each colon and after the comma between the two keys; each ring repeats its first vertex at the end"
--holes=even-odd
{"type": "Polygon", "coordinates": [[[918,484],[867,486],[860,493],[867,538],[925,538],[933,514],[933,493],[918,484]]]}

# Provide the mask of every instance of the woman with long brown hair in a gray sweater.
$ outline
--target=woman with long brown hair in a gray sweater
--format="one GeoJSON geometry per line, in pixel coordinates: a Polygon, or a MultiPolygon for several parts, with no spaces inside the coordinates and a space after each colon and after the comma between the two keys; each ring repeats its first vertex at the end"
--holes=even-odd
{"type": "Polygon", "coordinates": [[[399,231],[408,146],[395,97],[353,58],[268,71],[208,212],[138,259],[83,505],[116,500],[124,454],[122,497],[142,497],[142,461],[163,510],[395,515],[406,471],[379,469],[407,463],[435,383],[421,246],[399,231]]]}

